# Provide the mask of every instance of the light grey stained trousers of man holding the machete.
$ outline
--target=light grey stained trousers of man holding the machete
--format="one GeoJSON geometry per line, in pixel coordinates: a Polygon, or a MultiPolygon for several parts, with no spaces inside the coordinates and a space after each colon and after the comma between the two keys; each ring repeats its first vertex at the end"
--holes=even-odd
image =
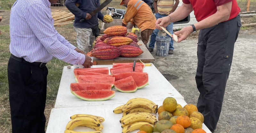
{"type": "Polygon", "coordinates": [[[84,53],[90,52],[92,50],[92,29],[86,28],[76,28],[76,43],[77,48],[84,51],[84,53]]]}

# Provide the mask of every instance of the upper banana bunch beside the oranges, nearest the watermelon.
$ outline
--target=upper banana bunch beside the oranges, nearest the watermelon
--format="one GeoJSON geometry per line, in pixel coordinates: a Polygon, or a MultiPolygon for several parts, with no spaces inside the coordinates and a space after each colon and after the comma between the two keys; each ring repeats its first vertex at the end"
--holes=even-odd
{"type": "Polygon", "coordinates": [[[132,98],[127,101],[126,104],[121,105],[113,110],[114,113],[123,113],[128,115],[130,113],[136,112],[146,112],[146,113],[157,113],[158,105],[153,101],[146,98],[132,98]]]}

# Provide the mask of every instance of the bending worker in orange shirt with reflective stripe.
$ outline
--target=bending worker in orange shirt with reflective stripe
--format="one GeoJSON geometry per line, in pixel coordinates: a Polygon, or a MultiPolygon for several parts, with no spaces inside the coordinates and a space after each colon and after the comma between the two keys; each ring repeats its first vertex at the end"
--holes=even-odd
{"type": "Polygon", "coordinates": [[[129,22],[132,25],[137,25],[141,29],[142,42],[147,46],[149,36],[156,28],[156,17],[148,4],[142,0],[121,0],[120,5],[123,4],[127,6],[127,10],[122,25],[126,27],[129,22]]]}

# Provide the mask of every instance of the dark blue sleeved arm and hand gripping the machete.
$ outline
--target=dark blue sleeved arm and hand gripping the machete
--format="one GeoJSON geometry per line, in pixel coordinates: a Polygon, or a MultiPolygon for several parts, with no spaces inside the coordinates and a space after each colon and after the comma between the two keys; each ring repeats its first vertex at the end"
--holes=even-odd
{"type": "Polygon", "coordinates": [[[76,17],[85,18],[86,20],[90,19],[92,16],[89,13],[83,12],[76,6],[76,0],[66,0],[65,6],[68,10],[73,13],[76,17]]]}

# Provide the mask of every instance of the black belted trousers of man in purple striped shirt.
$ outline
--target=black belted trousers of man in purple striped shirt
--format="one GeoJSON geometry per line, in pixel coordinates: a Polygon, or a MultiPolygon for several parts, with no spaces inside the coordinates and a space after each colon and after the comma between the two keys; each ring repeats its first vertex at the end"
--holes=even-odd
{"type": "Polygon", "coordinates": [[[47,68],[10,57],[7,71],[12,133],[45,133],[47,68]]]}

